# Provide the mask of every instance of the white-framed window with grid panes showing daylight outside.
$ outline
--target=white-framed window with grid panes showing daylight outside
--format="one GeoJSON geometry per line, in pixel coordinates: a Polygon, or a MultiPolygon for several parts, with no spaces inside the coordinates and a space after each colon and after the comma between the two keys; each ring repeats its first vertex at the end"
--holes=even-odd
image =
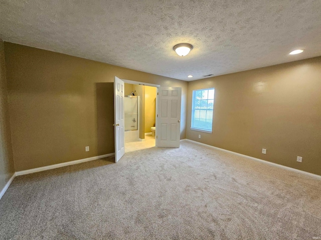
{"type": "Polygon", "coordinates": [[[212,132],[214,88],[193,90],[191,129],[212,132]]]}

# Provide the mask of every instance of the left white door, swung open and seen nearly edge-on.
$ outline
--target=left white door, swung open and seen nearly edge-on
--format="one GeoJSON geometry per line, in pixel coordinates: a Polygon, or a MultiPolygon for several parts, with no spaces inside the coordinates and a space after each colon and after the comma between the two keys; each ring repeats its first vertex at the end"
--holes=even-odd
{"type": "Polygon", "coordinates": [[[115,117],[115,162],[125,153],[124,120],[124,81],[115,76],[114,81],[114,117],[115,117]]]}

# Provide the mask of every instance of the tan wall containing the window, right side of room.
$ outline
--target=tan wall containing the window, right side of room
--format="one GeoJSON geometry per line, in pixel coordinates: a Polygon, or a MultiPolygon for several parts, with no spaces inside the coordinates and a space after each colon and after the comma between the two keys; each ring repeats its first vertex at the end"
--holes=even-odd
{"type": "Polygon", "coordinates": [[[189,82],[187,138],[321,175],[321,57],[189,82]],[[207,87],[213,133],[190,129],[192,91],[207,87]]]}

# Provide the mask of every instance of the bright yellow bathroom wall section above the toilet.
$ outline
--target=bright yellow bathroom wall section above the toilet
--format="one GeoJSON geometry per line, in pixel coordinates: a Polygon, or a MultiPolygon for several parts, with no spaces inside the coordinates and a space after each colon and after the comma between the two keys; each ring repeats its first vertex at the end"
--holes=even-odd
{"type": "Polygon", "coordinates": [[[155,124],[156,87],[145,86],[145,133],[155,124]]]}

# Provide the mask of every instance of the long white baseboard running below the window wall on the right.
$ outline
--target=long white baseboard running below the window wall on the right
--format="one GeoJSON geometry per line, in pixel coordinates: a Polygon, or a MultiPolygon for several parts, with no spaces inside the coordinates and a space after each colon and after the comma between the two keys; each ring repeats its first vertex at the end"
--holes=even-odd
{"type": "Polygon", "coordinates": [[[253,156],[248,156],[248,155],[244,155],[244,154],[241,154],[241,153],[238,153],[238,152],[226,150],[226,149],[223,149],[223,148],[220,148],[220,147],[217,147],[217,146],[211,146],[211,145],[208,145],[208,144],[205,144],[205,143],[202,143],[202,142],[193,141],[191,139],[182,139],[182,140],[194,142],[194,143],[197,143],[197,144],[200,144],[200,145],[203,145],[203,146],[207,146],[207,147],[211,147],[211,148],[214,148],[214,149],[217,149],[217,150],[229,152],[229,153],[232,153],[234,155],[243,156],[243,157],[246,157],[246,158],[251,159],[251,160],[260,161],[260,162],[263,162],[265,164],[269,164],[269,165],[272,165],[272,166],[277,166],[277,167],[280,167],[280,168],[283,168],[283,169],[287,169],[287,170],[290,170],[290,171],[299,172],[301,174],[312,176],[312,177],[315,177],[315,178],[321,180],[321,176],[317,175],[317,174],[314,174],[314,173],[310,173],[310,172],[307,172],[307,171],[302,171],[302,170],[299,170],[299,169],[296,169],[296,168],[292,168],[292,167],[289,167],[289,166],[284,166],[284,165],[277,164],[277,163],[274,163],[274,162],[266,161],[266,160],[263,160],[263,159],[260,159],[260,158],[256,158],[256,157],[253,157],[253,156]]]}

